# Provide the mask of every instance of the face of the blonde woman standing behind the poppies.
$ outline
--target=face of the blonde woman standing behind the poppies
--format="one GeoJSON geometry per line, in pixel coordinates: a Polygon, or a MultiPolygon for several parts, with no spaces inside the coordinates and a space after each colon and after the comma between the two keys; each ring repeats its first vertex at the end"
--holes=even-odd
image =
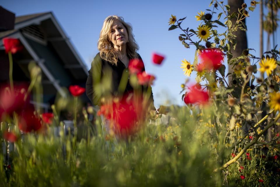
{"type": "Polygon", "coordinates": [[[124,46],[127,43],[127,30],[120,21],[113,21],[111,30],[109,31],[109,38],[111,39],[115,48],[118,48],[119,46],[124,46]]]}

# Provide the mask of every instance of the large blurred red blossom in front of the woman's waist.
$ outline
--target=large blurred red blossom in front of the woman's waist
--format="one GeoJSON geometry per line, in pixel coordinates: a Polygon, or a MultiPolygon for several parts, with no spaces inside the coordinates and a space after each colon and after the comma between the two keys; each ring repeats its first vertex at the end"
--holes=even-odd
{"type": "Polygon", "coordinates": [[[112,102],[102,105],[97,114],[102,114],[106,119],[113,122],[115,134],[120,137],[127,137],[139,129],[137,122],[143,119],[143,111],[145,109],[141,99],[124,96],[117,103],[112,102]]]}

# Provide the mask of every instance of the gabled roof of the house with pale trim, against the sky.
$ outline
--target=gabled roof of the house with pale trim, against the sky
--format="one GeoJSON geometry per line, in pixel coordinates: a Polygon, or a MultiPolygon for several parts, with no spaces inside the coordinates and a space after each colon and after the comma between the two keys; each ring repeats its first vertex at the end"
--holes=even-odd
{"type": "Polygon", "coordinates": [[[0,32],[0,45],[2,38],[17,36],[17,32],[24,36],[33,37],[42,44],[51,44],[58,56],[76,79],[86,79],[88,68],[85,66],[69,38],[60,27],[52,12],[36,13],[17,16],[15,28],[0,32]],[[35,34],[35,35],[33,35],[35,34]]]}

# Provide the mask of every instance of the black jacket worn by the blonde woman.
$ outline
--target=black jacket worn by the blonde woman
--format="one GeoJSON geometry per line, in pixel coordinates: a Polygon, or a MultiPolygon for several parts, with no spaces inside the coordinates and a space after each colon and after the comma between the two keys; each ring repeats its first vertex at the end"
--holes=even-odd
{"type": "MultiPolygon", "coordinates": [[[[141,59],[139,54],[137,58],[141,59]]],[[[143,71],[145,71],[145,67],[143,71]]],[[[118,59],[117,65],[114,65],[103,60],[100,57],[100,53],[97,53],[88,73],[85,89],[93,105],[100,105],[100,99],[104,94],[119,96],[133,92],[133,87],[129,82],[128,69],[120,59],[118,59]],[[121,79],[123,86],[120,86],[121,79]]],[[[142,86],[141,90],[147,91],[147,86],[142,86]]],[[[152,104],[152,109],[155,110],[153,93],[150,96],[150,103],[152,104]]]]}

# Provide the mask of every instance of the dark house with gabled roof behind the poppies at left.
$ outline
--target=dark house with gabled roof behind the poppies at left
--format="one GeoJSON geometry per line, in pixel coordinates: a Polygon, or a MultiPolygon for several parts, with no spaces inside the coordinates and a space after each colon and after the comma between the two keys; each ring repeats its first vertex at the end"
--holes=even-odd
{"type": "MultiPolygon", "coordinates": [[[[50,110],[57,93],[65,96],[65,88],[70,85],[85,87],[87,67],[52,12],[15,17],[0,6],[0,17],[6,19],[4,23],[0,21],[0,84],[9,81],[9,61],[2,39],[11,37],[19,39],[24,46],[13,55],[13,80],[29,82],[28,64],[36,62],[42,70],[43,103],[40,105],[45,110],[50,110]]],[[[85,94],[80,98],[90,102],[85,94]]]]}

